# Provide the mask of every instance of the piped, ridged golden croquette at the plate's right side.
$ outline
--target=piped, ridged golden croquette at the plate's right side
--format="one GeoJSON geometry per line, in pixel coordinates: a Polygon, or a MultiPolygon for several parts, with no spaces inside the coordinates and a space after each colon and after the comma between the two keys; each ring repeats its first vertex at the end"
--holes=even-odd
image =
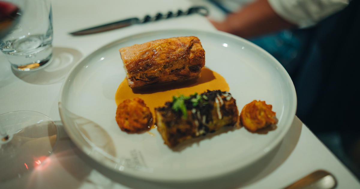
{"type": "Polygon", "coordinates": [[[268,105],[265,101],[253,100],[246,104],[240,113],[240,121],[242,125],[249,131],[257,131],[266,126],[276,123],[274,117],[275,112],[271,111],[272,105],[268,105]]]}

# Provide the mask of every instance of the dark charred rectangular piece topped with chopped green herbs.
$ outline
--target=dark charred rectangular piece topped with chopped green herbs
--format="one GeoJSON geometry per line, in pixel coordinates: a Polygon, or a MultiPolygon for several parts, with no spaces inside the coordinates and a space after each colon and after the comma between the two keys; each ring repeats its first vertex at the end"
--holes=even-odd
{"type": "Polygon", "coordinates": [[[156,125],[169,147],[184,140],[215,132],[223,126],[234,126],[239,112],[236,100],[227,91],[207,91],[178,97],[155,108],[156,125]]]}

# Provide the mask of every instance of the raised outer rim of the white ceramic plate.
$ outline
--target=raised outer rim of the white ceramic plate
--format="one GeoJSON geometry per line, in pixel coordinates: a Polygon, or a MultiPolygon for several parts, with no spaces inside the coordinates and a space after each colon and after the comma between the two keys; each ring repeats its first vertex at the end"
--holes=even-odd
{"type": "MultiPolygon", "coordinates": [[[[67,76],[64,78],[64,81],[61,85],[60,91],[59,91],[59,98],[58,98],[58,109],[59,109],[59,114],[60,114],[60,118],[61,121],[63,123],[64,126],[64,130],[67,132],[68,136],[70,137],[70,139],[73,141],[73,143],[76,144],[76,146],[82,150],[83,153],[87,154],[88,157],[90,157],[91,159],[93,159],[95,162],[99,163],[102,166],[105,166],[107,168],[109,168],[110,170],[120,173],[120,174],[124,174],[126,176],[131,176],[131,177],[135,177],[138,179],[144,179],[144,180],[149,180],[149,181],[162,181],[162,182],[178,182],[178,181],[199,181],[199,180],[208,180],[214,177],[219,177],[221,175],[225,175],[228,174],[230,172],[234,172],[237,170],[241,170],[242,168],[246,167],[247,165],[252,165],[253,163],[257,162],[259,159],[261,159],[262,157],[265,157],[267,154],[269,154],[276,146],[278,146],[280,144],[280,142],[284,139],[284,136],[288,133],[292,122],[295,118],[295,113],[296,113],[296,109],[297,109],[297,96],[296,96],[296,91],[295,91],[295,87],[293,84],[293,81],[291,80],[291,77],[289,76],[289,74],[287,73],[287,71],[285,70],[285,68],[282,66],[282,64],[279,63],[278,60],[276,60],[270,53],[268,53],[267,51],[265,51],[264,49],[262,49],[260,46],[254,44],[251,41],[248,41],[242,37],[230,34],[230,33],[226,33],[226,32],[222,32],[222,31],[208,31],[208,30],[196,30],[196,29],[184,29],[184,28],[179,28],[179,29],[160,29],[160,30],[149,30],[149,31],[145,31],[145,32],[138,32],[138,33],[132,33],[130,35],[126,35],[123,36],[119,39],[113,40],[99,48],[96,48],[94,51],[92,51],[91,53],[89,53],[88,55],[86,55],[86,57],[81,58],[72,68],[71,70],[68,72],[67,76]],[[96,156],[91,156],[91,152],[94,150],[91,149],[87,149],[88,147],[86,145],[84,145],[84,143],[82,141],[80,141],[80,139],[76,138],[74,136],[74,134],[71,132],[69,126],[66,124],[65,121],[65,115],[64,112],[65,110],[63,110],[63,105],[62,105],[62,99],[63,99],[63,91],[64,88],[66,87],[66,85],[70,82],[69,78],[71,78],[71,75],[73,74],[74,70],[78,68],[78,66],[80,64],[82,64],[85,60],[90,59],[91,56],[95,55],[96,53],[98,53],[99,51],[102,51],[103,49],[109,47],[109,46],[113,46],[116,44],[121,43],[122,41],[127,41],[130,39],[138,39],[141,36],[151,36],[151,35],[156,35],[162,32],[200,32],[200,33],[211,33],[211,34],[215,34],[215,35],[222,35],[222,36],[226,36],[226,37],[230,37],[233,38],[234,40],[240,40],[244,43],[247,43],[249,45],[254,46],[255,48],[257,48],[258,50],[262,51],[262,53],[264,53],[264,55],[266,55],[267,57],[269,57],[270,59],[272,59],[272,61],[277,64],[277,66],[281,69],[279,70],[279,72],[283,72],[284,76],[287,77],[287,81],[289,82],[288,84],[290,84],[290,88],[291,88],[291,92],[292,92],[292,103],[293,103],[293,108],[291,109],[290,115],[291,117],[289,117],[289,120],[287,122],[285,122],[285,127],[284,130],[282,132],[280,132],[279,137],[277,137],[275,140],[273,140],[268,146],[267,148],[269,148],[269,150],[267,150],[266,152],[262,152],[262,153],[256,153],[255,157],[249,159],[248,161],[245,161],[245,163],[241,163],[239,164],[240,166],[232,166],[229,167],[228,169],[226,169],[225,171],[221,171],[221,172],[217,172],[217,173],[208,173],[206,175],[200,175],[196,178],[177,178],[175,177],[167,177],[167,178],[159,178],[157,176],[154,176],[154,174],[148,173],[148,172],[140,172],[140,171],[136,171],[136,170],[131,170],[131,169],[126,169],[126,171],[122,171],[122,170],[117,170],[113,167],[113,165],[109,164],[109,161],[107,162],[102,162],[100,161],[101,159],[99,157],[96,156]]],[[[89,145],[91,147],[90,144],[86,143],[87,145],[89,145]]],[[[101,149],[100,149],[101,150],[101,149]]],[[[100,152],[97,152],[100,153],[100,152]]],[[[102,153],[100,153],[102,154],[102,153]]],[[[102,154],[104,155],[104,154],[102,154]]]]}

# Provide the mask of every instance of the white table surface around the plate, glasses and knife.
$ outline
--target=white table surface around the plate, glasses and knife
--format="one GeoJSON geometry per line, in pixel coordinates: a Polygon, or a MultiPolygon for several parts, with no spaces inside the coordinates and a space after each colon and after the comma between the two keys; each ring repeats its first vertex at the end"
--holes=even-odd
{"type": "MultiPolygon", "coordinates": [[[[254,165],[216,179],[193,183],[156,183],[117,174],[94,162],[72,143],[63,129],[58,111],[62,81],[68,71],[91,52],[134,33],[168,28],[216,29],[200,15],[190,15],[134,25],[88,36],[69,32],[129,17],[143,17],[169,10],[186,10],[187,0],[63,0],[52,1],[54,60],[47,71],[22,74],[12,71],[0,55],[0,114],[36,111],[51,117],[58,126],[58,143],[51,163],[42,171],[32,171],[0,183],[0,188],[283,188],[312,171],[331,172],[337,188],[360,188],[354,175],[295,117],[284,140],[254,165]],[[141,5],[141,6],[140,6],[141,5]],[[61,67],[61,70],[56,68],[61,67]],[[49,72],[49,70],[51,72],[49,72]],[[35,75],[36,73],[36,75],[35,75]]],[[[2,170],[0,170],[2,171],[2,170]]]]}

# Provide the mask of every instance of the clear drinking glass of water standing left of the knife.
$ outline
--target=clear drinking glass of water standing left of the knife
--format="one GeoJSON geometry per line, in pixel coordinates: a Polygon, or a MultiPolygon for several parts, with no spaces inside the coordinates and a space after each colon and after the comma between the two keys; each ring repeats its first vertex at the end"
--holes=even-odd
{"type": "Polygon", "coordinates": [[[51,1],[8,1],[19,5],[17,14],[21,19],[8,35],[0,39],[0,50],[11,66],[19,71],[33,71],[48,65],[53,54],[51,1]]]}

